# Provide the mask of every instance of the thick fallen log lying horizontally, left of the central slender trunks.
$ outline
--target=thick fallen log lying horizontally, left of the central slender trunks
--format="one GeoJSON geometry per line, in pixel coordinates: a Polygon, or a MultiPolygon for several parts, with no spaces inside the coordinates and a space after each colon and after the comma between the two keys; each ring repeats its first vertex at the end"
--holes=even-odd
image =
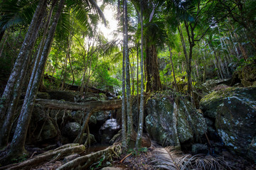
{"type": "Polygon", "coordinates": [[[36,103],[40,103],[46,108],[53,109],[68,109],[73,111],[87,111],[92,109],[93,111],[110,111],[122,107],[122,100],[114,101],[89,101],[85,103],[72,103],[68,101],[48,100],[48,99],[36,99],[36,103]]]}

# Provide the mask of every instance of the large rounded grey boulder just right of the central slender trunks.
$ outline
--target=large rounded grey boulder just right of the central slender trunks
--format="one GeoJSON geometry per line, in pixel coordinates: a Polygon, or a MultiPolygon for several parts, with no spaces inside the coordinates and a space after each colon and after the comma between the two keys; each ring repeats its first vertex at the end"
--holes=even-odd
{"type": "Polygon", "coordinates": [[[174,94],[156,94],[146,103],[146,130],[163,146],[191,142],[206,132],[206,122],[191,103],[174,94]]]}

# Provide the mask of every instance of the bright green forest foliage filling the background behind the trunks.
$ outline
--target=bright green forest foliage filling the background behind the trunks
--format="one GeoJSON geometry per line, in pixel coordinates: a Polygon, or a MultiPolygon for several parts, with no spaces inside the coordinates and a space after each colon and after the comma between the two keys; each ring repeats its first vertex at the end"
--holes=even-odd
{"type": "MultiPolygon", "coordinates": [[[[1,79],[8,79],[36,4],[28,5],[29,1],[0,2],[0,28],[4,31],[0,43],[1,79]]],[[[222,1],[159,0],[151,4],[143,3],[144,7],[147,6],[144,10],[144,37],[148,44],[156,45],[163,89],[174,88],[170,55],[177,83],[187,82],[187,61],[177,30],[181,28],[188,52],[188,36],[191,35],[186,32],[186,24],[191,24],[188,29],[193,28],[196,38],[191,62],[193,81],[229,78],[235,69],[255,60],[255,1],[227,1],[224,4],[222,1]]],[[[104,8],[119,11],[113,14],[119,20],[122,1],[105,1],[103,11],[104,8]]],[[[137,94],[137,77],[140,79],[137,76],[137,57],[140,55],[139,48],[137,51],[140,43],[139,8],[139,1],[128,1],[132,94],[137,94]]],[[[102,20],[89,9],[89,6],[80,8],[73,1],[67,1],[45,68],[45,74],[55,77],[59,83],[51,86],[50,82],[44,81],[49,88],[63,89],[62,82],[65,82],[112,92],[120,89],[122,21],[119,20],[114,32],[117,37],[107,40],[99,29],[102,20]]],[[[43,30],[40,36],[42,33],[43,30]]],[[[36,42],[34,54],[39,42],[40,39],[36,42]]]]}

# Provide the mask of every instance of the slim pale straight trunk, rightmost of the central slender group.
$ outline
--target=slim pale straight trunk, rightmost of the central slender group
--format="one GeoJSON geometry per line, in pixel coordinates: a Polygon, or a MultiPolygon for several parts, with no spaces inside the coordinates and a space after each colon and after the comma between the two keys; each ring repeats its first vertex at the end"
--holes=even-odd
{"type": "MultiPolygon", "coordinates": [[[[141,95],[140,95],[140,104],[139,104],[139,125],[138,132],[136,138],[136,147],[139,149],[142,147],[142,135],[143,135],[143,123],[144,123],[144,81],[143,81],[143,8],[142,8],[142,0],[141,4],[141,95]]],[[[139,102],[139,101],[138,101],[139,102]]]]}

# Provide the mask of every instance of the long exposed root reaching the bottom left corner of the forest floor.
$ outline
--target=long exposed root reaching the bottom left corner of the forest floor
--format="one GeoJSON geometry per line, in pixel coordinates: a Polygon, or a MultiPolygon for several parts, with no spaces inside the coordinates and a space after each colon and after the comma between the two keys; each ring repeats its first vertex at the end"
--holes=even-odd
{"type": "Polygon", "coordinates": [[[65,157],[70,154],[75,153],[82,153],[85,151],[84,145],[78,145],[78,144],[68,144],[63,145],[62,147],[59,147],[54,150],[50,150],[48,152],[44,152],[43,154],[39,154],[36,157],[33,157],[31,159],[27,159],[24,162],[18,163],[18,164],[11,164],[8,166],[0,167],[0,169],[30,169],[31,166],[36,166],[38,164],[42,164],[43,162],[48,162],[55,159],[60,159],[60,157],[65,157]]]}

